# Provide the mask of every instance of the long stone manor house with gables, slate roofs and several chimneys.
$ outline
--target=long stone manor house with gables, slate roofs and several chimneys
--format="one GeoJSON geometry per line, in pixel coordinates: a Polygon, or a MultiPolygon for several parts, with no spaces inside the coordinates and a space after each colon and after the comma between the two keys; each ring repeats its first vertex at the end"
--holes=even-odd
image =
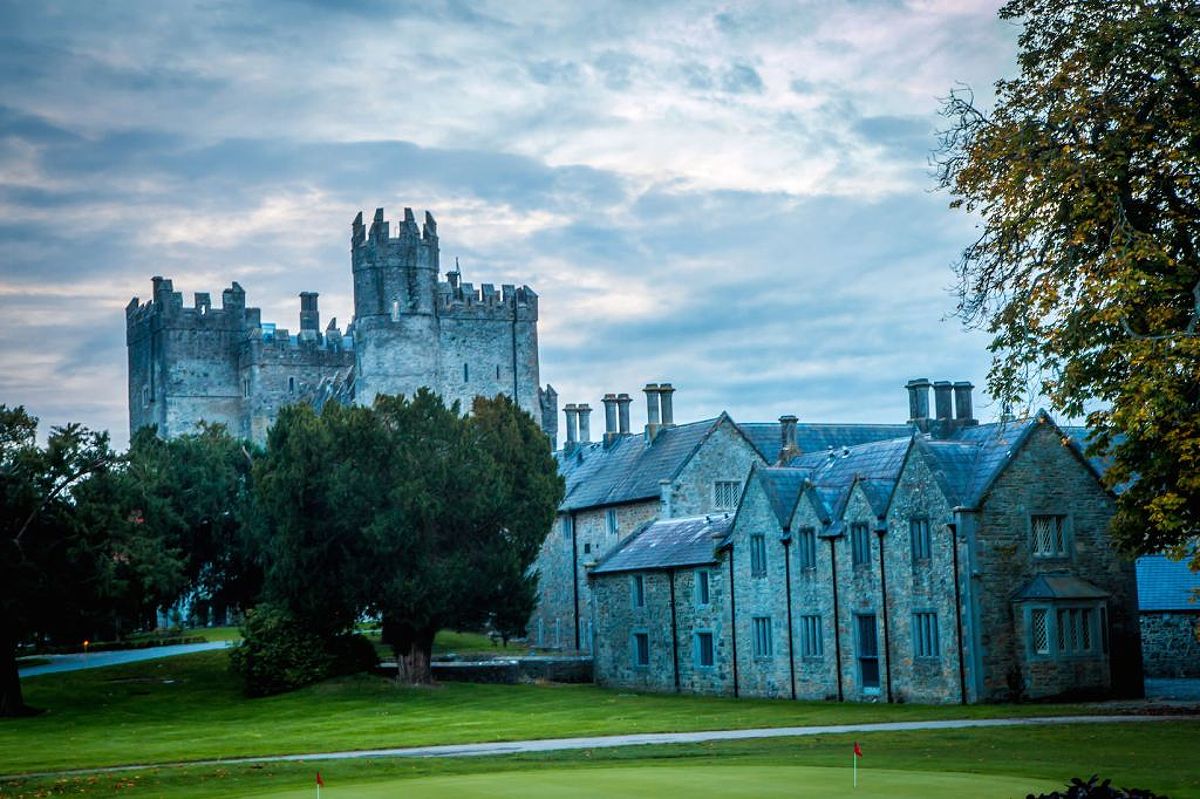
{"type": "Polygon", "coordinates": [[[912,380],[895,425],[648,423],[568,404],[566,481],[530,638],[599,684],[968,703],[1140,695],[1134,565],[1081,428],[980,425],[967,383],[912,380]],[[934,414],[930,414],[930,390],[934,414]]]}

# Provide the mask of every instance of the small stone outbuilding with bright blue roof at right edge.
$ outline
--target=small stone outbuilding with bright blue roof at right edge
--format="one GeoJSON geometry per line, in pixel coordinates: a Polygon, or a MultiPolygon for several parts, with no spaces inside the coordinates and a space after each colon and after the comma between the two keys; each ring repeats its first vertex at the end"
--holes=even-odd
{"type": "Polygon", "coordinates": [[[1200,573],[1166,555],[1138,559],[1146,677],[1200,677],[1200,573]]]}

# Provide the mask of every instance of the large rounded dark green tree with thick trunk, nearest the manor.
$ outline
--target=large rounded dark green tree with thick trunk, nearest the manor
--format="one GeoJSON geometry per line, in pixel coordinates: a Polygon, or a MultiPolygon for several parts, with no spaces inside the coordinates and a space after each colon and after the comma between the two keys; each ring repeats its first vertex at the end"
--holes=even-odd
{"type": "Polygon", "coordinates": [[[266,595],[331,637],[378,615],[401,675],[426,681],[439,629],[523,632],[562,492],[548,440],[503,396],[470,416],[426,390],[287,408],[256,467],[266,595]]]}

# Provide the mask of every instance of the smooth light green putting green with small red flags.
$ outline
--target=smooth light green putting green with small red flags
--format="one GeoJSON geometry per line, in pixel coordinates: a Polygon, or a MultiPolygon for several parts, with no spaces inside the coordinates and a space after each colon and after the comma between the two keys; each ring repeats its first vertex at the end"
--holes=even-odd
{"type": "MultiPolygon", "coordinates": [[[[316,769],[313,770],[316,773],[316,769]]],[[[1055,786],[1044,780],[1019,776],[962,774],[956,771],[899,771],[860,767],[858,787],[851,785],[851,768],[802,765],[647,765],[641,768],[580,768],[467,774],[460,776],[418,777],[386,782],[337,785],[334,771],[324,774],[322,799],[355,797],[364,799],[406,797],[406,799],[539,799],[541,797],[577,797],[613,799],[616,797],[686,797],[730,799],[754,797],[856,797],[859,799],[1010,799],[1030,792],[1040,793],[1055,786]]],[[[263,799],[300,799],[316,795],[316,786],[282,793],[260,794],[263,799]]]]}

